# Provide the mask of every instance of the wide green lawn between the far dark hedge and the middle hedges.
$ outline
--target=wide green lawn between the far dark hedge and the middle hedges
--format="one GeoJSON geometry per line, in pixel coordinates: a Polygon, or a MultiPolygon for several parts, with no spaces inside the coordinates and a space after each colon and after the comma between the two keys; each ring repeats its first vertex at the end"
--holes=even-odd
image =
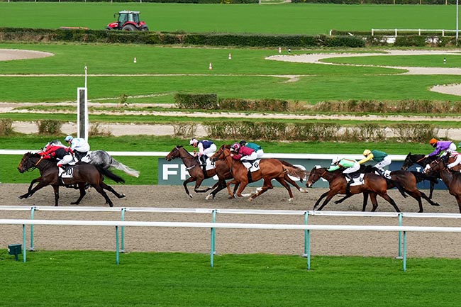
{"type": "MultiPolygon", "coordinates": [[[[276,50],[60,44],[1,44],[0,48],[55,54],[35,60],[0,62],[0,72],[16,74],[0,77],[0,101],[13,102],[74,100],[77,87],[84,86],[85,65],[89,73],[89,100],[109,98],[112,102],[126,94],[160,95],[151,101],[171,103],[176,93],[216,93],[220,98],[285,99],[301,103],[348,99],[450,101],[457,96],[428,89],[436,84],[459,82],[459,77],[453,75],[434,78],[397,74],[400,69],[265,60],[278,54],[276,50]],[[229,52],[233,52],[232,60],[228,60],[229,52]],[[133,63],[133,57],[137,57],[137,63],[133,63]],[[210,62],[212,70],[209,70],[210,62]],[[301,77],[296,82],[287,82],[289,77],[274,77],[280,74],[301,77]]],[[[381,61],[381,57],[377,58],[381,61]]],[[[416,66],[427,62],[427,58],[418,59],[413,61],[416,66]]],[[[431,60],[440,62],[440,56],[433,55],[431,60]]],[[[140,99],[146,102],[145,98],[140,99]]],[[[129,102],[136,101],[130,99],[129,102]]]]}

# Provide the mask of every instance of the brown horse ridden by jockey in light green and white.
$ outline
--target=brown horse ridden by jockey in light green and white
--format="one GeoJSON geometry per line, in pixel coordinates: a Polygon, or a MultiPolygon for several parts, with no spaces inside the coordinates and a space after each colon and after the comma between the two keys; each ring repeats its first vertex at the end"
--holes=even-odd
{"type": "MultiPolygon", "coordinates": [[[[318,179],[326,179],[330,184],[330,190],[323,193],[320,198],[316,201],[315,205],[313,206],[313,210],[316,210],[320,201],[326,197],[325,201],[323,201],[322,205],[318,210],[322,210],[324,206],[333,198],[333,196],[337,194],[347,194],[346,186],[347,182],[343,175],[343,171],[340,169],[335,170],[334,172],[328,172],[326,167],[314,167],[309,174],[309,179],[307,179],[306,186],[311,187],[314,183],[318,181],[318,179]]],[[[386,179],[383,177],[373,174],[367,173],[364,176],[365,184],[361,184],[358,186],[350,186],[350,194],[359,194],[367,192],[370,195],[370,199],[373,204],[372,211],[376,211],[378,207],[377,203],[377,195],[381,196],[387,202],[389,202],[395,209],[395,211],[400,212],[399,207],[397,207],[394,199],[387,194],[387,182],[386,179]]],[[[402,191],[401,191],[402,193],[402,191]]],[[[402,195],[406,196],[404,193],[402,195]]]]}

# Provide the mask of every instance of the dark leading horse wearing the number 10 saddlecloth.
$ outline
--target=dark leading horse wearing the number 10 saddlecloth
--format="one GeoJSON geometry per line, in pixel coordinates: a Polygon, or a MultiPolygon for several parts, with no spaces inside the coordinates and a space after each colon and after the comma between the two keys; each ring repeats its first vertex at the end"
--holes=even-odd
{"type": "Polygon", "coordinates": [[[124,194],[118,194],[111,186],[103,182],[104,176],[112,179],[115,182],[125,182],[123,178],[118,177],[116,174],[113,174],[108,169],[93,165],[93,164],[76,164],[72,169],[72,178],[60,178],[58,177],[58,168],[56,162],[45,160],[40,157],[38,153],[27,152],[23,155],[21,162],[18,165],[18,171],[23,173],[27,171],[32,171],[37,168],[40,171],[40,181],[35,186],[35,188],[28,191],[26,194],[19,196],[20,199],[27,199],[32,196],[36,191],[42,189],[44,186],[52,186],[55,191],[55,206],[58,205],[59,200],[59,186],[68,186],[70,184],[77,184],[79,186],[80,196],[77,201],[72,202],[73,205],[78,205],[83,199],[87,192],[85,191],[85,184],[90,184],[96,189],[104,199],[106,203],[109,203],[109,206],[113,206],[111,199],[107,196],[104,189],[111,191],[119,199],[125,197],[124,194]]]}

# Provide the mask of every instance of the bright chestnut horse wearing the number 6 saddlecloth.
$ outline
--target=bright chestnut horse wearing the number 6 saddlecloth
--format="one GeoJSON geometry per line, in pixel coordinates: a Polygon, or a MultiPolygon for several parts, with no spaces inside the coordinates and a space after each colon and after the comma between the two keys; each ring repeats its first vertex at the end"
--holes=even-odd
{"type": "Polygon", "coordinates": [[[262,188],[258,188],[254,194],[250,195],[249,201],[255,199],[257,196],[265,193],[268,189],[273,189],[272,186],[272,179],[277,180],[285,189],[287,189],[288,194],[290,196],[289,201],[293,199],[293,193],[287,182],[290,182],[294,186],[296,186],[299,191],[304,191],[301,189],[293,179],[291,179],[288,175],[293,177],[298,177],[299,179],[304,179],[306,177],[307,172],[303,169],[298,167],[294,167],[293,165],[289,164],[288,162],[282,162],[277,159],[266,159],[263,158],[260,160],[260,169],[256,172],[252,172],[251,174],[248,173],[248,169],[243,165],[240,160],[235,160],[230,155],[230,145],[222,145],[218,151],[214,155],[211,156],[212,161],[217,160],[224,160],[227,166],[230,169],[230,172],[233,175],[233,180],[227,183],[227,189],[229,193],[229,198],[235,197],[235,192],[230,191],[230,185],[235,184],[238,186],[238,191],[236,196],[242,197],[242,192],[245,187],[250,182],[257,182],[260,179],[264,180],[264,184],[262,188]],[[249,178],[251,177],[251,180],[249,178]],[[239,186],[240,185],[240,186],[239,186]]]}

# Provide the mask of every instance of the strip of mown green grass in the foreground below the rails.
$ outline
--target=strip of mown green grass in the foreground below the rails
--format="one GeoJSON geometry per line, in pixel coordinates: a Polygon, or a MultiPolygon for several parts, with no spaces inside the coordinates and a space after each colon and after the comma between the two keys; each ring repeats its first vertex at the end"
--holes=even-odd
{"type": "Polygon", "coordinates": [[[2,306],[459,306],[460,259],[0,250],[2,306]]]}

